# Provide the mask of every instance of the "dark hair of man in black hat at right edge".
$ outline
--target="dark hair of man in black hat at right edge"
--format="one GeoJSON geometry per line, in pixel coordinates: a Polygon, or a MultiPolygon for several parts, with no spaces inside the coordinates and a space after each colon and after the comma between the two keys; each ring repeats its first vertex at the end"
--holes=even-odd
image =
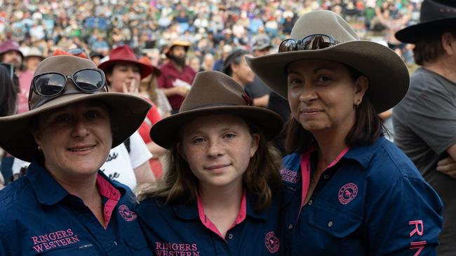
{"type": "Polygon", "coordinates": [[[416,64],[422,66],[425,62],[434,62],[437,57],[445,53],[441,42],[442,35],[445,33],[451,33],[456,37],[456,29],[454,28],[436,29],[436,31],[423,36],[420,41],[415,44],[415,48],[413,48],[413,57],[416,64]]]}

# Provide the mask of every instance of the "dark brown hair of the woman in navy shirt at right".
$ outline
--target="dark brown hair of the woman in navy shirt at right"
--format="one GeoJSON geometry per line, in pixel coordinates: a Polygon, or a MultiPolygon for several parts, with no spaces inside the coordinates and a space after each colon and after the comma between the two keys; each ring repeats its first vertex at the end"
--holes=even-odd
{"type": "MultiPolygon", "coordinates": [[[[356,81],[362,74],[351,66],[344,66],[349,69],[350,77],[356,81]]],[[[315,143],[314,135],[302,127],[295,118],[289,118],[284,128],[286,131],[285,148],[286,154],[293,152],[306,152],[315,143]]],[[[345,143],[349,147],[356,145],[370,145],[377,138],[382,136],[384,128],[382,118],[378,115],[368,95],[364,95],[361,104],[355,110],[355,123],[345,137],[345,143]]]]}

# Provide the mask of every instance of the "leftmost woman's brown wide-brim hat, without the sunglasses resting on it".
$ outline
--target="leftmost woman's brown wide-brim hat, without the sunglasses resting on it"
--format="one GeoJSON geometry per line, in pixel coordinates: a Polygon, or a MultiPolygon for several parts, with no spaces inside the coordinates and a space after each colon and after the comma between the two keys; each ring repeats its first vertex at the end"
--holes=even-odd
{"type": "MultiPolygon", "coordinates": [[[[80,57],[60,55],[44,59],[37,67],[34,76],[46,72],[58,72],[72,76],[80,69],[96,69],[93,62],[80,57]]],[[[0,148],[14,157],[31,162],[39,154],[38,145],[34,141],[31,127],[34,118],[43,113],[55,111],[58,108],[76,104],[82,101],[99,101],[109,109],[112,128],[112,148],[123,143],[142,124],[150,104],[128,94],[107,92],[107,86],[95,93],[83,93],[67,80],[65,89],[60,96],[50,98],[42,103],[44,97],[30,90],[30,111],[18,115],[0,118],[0,148]]]]}

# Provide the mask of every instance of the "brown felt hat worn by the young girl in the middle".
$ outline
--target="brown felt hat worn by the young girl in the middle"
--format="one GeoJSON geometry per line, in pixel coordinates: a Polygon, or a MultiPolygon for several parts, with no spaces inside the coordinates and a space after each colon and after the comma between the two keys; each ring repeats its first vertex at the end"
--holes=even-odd
{"type": "Polygon", "coordinates": [[[282,129],[282,119],[267,108],[252,106],[243,87],[218,71],[196,74],[180,112],[157,122],[150,130],[152,140],[163,148],[172,148],[179,140],[180,129],[203,115],[232,114],[255,124],[268,139],[282,129]]]}

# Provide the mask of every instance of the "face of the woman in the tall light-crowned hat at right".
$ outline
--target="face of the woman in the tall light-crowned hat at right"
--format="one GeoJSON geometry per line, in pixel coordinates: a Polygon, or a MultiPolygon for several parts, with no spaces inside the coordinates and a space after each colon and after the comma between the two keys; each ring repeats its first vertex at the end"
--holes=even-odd
{"type": "Polygon", "coordinates": [[[288,66],[288,101],[293,117],[304,129],[349,130],[355,122],[368,80],[351,78],[347,66],[323,59],[302,59],[288,66]]]}

